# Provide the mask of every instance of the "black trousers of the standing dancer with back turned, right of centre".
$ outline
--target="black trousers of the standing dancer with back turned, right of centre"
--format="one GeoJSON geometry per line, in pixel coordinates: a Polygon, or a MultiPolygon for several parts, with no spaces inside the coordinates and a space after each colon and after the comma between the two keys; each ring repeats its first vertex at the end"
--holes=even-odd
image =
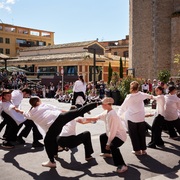
{"type": "Polygon", "coordinates": [[[128,120],[128,130],[133,150],[146,150],[146,123],[134,123],[128,120]]]}

